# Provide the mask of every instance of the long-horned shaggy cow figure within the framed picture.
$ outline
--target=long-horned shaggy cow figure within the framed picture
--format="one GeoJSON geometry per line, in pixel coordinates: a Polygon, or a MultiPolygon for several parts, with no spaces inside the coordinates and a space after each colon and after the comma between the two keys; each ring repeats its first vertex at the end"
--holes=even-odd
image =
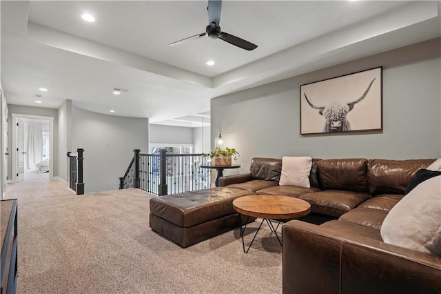
{"type": "Polygon", "coordinates": [[[347,114],[349,111],[353,110],[356,104],[365,99],[367,93],[371,89],[373,81],[375,80],[376,78],[371,81],[369,86],[367,86],[365,93],[363,93],[360,98],[350,103],[333,102],[327,106],[316,106],[309,101],[306,93],[304,93],[305,99],[309,106],[311,106],[311,108],[318,109],[318,113],[325,117],[326,121],[325,126],[323,127],[324,133],[344,132],[351,130],[351,124],[349,124],[349,121],[347,120],[347,114]]]}

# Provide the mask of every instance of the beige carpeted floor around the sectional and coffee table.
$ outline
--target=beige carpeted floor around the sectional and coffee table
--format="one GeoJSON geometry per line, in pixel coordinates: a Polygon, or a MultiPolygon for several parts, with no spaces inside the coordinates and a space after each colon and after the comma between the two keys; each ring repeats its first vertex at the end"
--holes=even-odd
{"type": "Polygon", "coordinates": [[[267,226],[248,254],[238,229],[183,249],[150,229],[153,196],[142,190],[77,196],[39,181],[6,197],[19,199],[17,293],[282,292],[282,249],[267,226]]]}

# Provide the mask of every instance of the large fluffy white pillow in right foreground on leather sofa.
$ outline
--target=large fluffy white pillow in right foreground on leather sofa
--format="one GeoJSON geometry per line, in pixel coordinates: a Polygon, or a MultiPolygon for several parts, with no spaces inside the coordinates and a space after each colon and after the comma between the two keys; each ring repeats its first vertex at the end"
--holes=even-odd
{"type": "Polygon", "coordinates": [[[441,255],[441,175],[418,184],[393,206],[381,237],[389,244],[441,255]]]}

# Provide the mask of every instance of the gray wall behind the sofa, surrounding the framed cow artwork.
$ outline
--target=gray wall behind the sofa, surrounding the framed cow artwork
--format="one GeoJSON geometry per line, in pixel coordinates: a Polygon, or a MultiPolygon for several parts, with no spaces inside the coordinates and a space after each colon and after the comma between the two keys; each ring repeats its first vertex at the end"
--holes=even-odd
{"type": "MultiPolygon", "coordinates": [[[[416,159],[441,157],[440,39],[212,99],[212,134],[252,157],[416,159]],[[300,135],[300,85],[384,66],[383,130],[300,135]]],[[[214,138],[212,138],[214,139],[214,138]]]]}

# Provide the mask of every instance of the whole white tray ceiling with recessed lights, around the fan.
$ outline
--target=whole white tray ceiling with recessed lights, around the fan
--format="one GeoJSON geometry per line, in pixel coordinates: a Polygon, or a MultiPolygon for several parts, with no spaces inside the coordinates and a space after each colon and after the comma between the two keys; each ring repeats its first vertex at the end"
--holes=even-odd
{"type": "Polygon", "coordinates": [[[207,1],[1,1],[1,79],[8,104],[71,99],[198,126],[213,97],[440,37],[440,10],[440,1],[223,1],[220,27],[258,45],[246,51],[207,37],[167,45],[205,31],[207,1]]]}

